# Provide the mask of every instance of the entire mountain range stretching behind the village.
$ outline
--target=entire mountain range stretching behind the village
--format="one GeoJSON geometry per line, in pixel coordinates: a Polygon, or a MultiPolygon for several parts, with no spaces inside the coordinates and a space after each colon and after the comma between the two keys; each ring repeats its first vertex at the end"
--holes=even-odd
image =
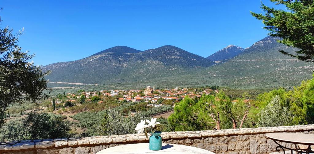
{"type": "Polygon", "coordinates": [[[116,88],[148,84],[288,88],[311,78],[312,64],[278,52],[297,49],[280,44],[277,39],[268,36],[247,49],[230,45],[207,58],[170,45],[145,51],[116,46],[76,61],[49,64],[42,69],[52,71],[47,76],[52,82],[96,83],[116,88]]]}

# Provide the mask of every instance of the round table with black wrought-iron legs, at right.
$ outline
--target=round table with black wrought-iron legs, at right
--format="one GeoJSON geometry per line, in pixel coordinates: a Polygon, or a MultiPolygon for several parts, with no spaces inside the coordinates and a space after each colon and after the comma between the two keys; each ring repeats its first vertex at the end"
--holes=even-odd
{"type": "MultiPolygon", "coordinates": [[[[314,145],[314,135],[312,134],[301,134],[301,133],[269,133],[266,134],[266,137],[273,140],[278,146],[276,147],[276,150],[279,151],[282,149],[289,149],[292,151],[296,151],[298,153],[310,153],[314,152],[311,150],[311,146],[314,145]],[[295,145],[295,149],[287,148],[282,145],[280,145],[277,141],[279,142],[285,142],[285,143],[292,143],[295,145]],[[297,146],[297,144],[301,145],[308,145],[307,149],[301,149],[300,147],[297,146]],[[279,149],[280,148],[280,149],[279,149]]],[[[285,153],[285,151],[284,151],[285,153]]]]}

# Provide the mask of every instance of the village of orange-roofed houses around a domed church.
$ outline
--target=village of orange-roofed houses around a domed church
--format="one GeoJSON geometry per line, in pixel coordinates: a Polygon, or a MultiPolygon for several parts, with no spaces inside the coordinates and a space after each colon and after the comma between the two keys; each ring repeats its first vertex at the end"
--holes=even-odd
{"type": "MultiPolygon", "coordinates": [[[[100,91],[83,91],[80,90],[77,94],[67,93],[66,100],[62,99],[62,95],[59,94],[59,98],[56,99],[56,104],[64,101],[71,102],[73,104],[82,103],[79,99],[86,99],[85,102],[104,103],[103,97],[116,97],[118,102],[147,102],[147,106],[160,107],[167,102],[167,105],[174,105],[175,102],[180,102],[186,96],[195,99],[200,98],[203,94],[209,95],[218,93],[218,89],[205,89],[203,91],[192,88],[174,88],[174,89],[156,89],[154,86],[147,86],[142,90],[100,90],[100,91]]],[[[236,101],[236,100],[235,100],[236,101]]],[[[52,101],[51,101],[52,103],[52,101]]]]}

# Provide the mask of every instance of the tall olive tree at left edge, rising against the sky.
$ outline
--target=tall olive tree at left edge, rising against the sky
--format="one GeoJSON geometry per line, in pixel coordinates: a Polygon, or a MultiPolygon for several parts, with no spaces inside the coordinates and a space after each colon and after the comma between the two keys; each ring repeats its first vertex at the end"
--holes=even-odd
{"type": "Polygon", "coordinates": [[[47,88],[45,75],[49,72],[42,72],[40,66],[30,62],[34,55],[17,45],[23,31],[24,28],[14,35],[12,29],[0,27],[0,128],[9,105],[25,101],[35,103],[47,88]]]}

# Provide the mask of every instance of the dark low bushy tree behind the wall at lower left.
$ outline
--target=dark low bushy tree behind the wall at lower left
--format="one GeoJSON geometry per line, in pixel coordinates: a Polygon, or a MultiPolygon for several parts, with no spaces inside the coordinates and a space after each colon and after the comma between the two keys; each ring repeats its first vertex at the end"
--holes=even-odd
{"type": "Polygon", "coordinates": [[[30,112],[22,123],[14,124],[14,121],[11,121],[1,129],[2,141],[55,139],[72,135],[61,116],[42,112],[30,112]]]}

